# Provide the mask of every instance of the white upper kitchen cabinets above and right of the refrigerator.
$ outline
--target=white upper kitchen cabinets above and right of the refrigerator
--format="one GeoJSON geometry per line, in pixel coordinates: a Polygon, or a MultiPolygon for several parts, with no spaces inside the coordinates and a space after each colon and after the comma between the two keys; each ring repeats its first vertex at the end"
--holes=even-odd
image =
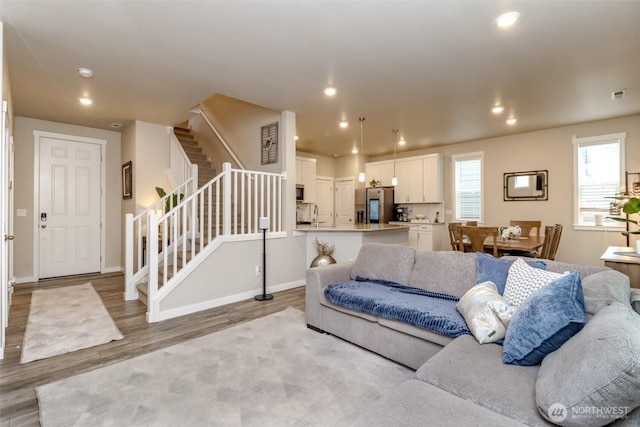
{"type": "MultiPolygon", "coordinates": [[[[396,160],[395,203],[442,203],[444,201],[442,179],[442,154],[405,157],[396,160]]],[[[366,164],[367,186],[372,179],[381,181],[379,186],[391,185],[393,160],[366,164]]]]}

